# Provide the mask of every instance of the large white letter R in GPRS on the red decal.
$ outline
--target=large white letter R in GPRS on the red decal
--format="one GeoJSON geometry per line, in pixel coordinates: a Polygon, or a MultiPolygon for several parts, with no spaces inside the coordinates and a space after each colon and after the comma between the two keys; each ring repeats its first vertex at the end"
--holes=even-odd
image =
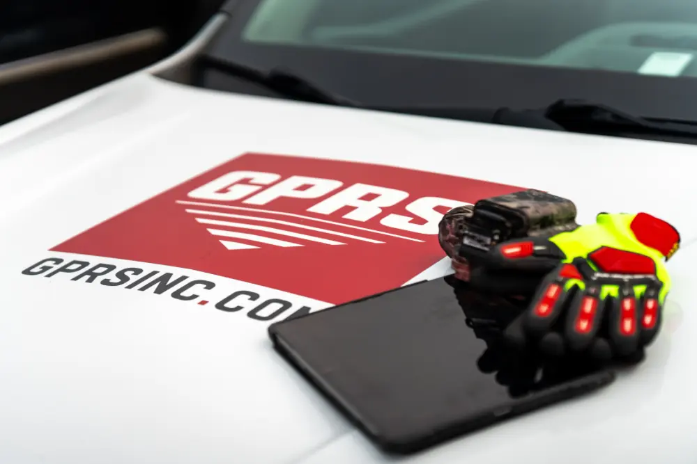
{"type": "Polygon", "coordinates": [[[307,211],[319,214],[332,214],[344,207],[354,207],[353,211],[344,214],[345,219],[354,221],[368,221],[383,212],[383,208],[395,206],[409,196],[401,190],[386,189],[367,184],[353,184],[352,186],[330,196],[307,211]],[[369,200],[363,200],[366,195],[376,195],[369,200]]]}

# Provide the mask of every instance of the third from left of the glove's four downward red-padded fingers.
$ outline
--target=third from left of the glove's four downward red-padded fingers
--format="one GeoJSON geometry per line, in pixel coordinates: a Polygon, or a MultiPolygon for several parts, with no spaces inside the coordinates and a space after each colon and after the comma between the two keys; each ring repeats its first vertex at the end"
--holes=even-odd
{"type": "Polygon", "coordinates": [[[619,356],[627,356],[636,351],[639,344],[638,305],[634,289],[620,287],[618,298],[608,297],[608,337],[613,351],[619,356]]]}

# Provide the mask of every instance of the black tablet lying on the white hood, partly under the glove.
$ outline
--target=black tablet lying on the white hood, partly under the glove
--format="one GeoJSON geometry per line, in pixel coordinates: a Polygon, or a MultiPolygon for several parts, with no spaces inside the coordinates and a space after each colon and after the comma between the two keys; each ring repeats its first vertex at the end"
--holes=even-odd
{"type": "Polygon", "coordinates": [[[446,277],[274,324],[276,349],[385,451],[408,454],[596,390],[614,374],[512,351],[514,301],[446,277]]]}

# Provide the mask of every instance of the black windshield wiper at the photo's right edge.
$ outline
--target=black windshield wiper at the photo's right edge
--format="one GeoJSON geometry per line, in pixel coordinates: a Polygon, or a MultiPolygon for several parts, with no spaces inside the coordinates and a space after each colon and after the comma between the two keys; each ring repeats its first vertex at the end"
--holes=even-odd
{"type": "Polygon", "coordinates": [[[666,136],[697,136],[697,127],[682,122],[642,118],[583,99],[560,99],[542,109],[544,118],[566,131],[585,134],[617,135],[622,133],[666,136]]]}

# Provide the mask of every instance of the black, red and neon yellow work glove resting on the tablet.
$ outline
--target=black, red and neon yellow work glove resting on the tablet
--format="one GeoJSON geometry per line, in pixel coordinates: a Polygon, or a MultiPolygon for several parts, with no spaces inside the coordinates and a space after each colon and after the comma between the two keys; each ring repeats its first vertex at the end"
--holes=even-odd
{"type": "Polygon", "coordinates": [[[472,264],[473,288],[528,296],[505,330],[521,349],[638,360],[659,331],[671,289],[664,262],[679,245],[677,230],[659,218],[602,213],[571,232],[459,255],[472,264]]]}

